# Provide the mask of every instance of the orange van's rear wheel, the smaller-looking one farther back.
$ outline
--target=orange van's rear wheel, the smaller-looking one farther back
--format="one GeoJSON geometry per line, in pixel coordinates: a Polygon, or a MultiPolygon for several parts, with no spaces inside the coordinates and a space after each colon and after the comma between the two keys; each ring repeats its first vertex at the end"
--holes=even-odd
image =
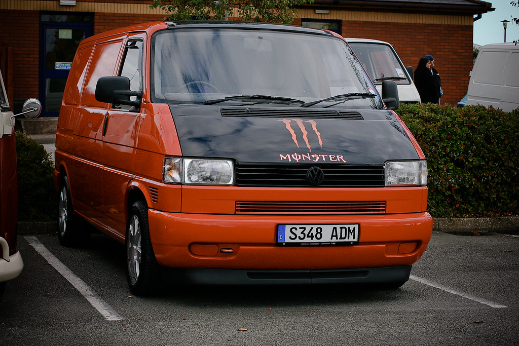
{"type": "Polygon", "coordinates": [[[76,214],[70,197],[69,178],[61,182],[58,204],[58,239],[63,246],[77,246],[88,241],[85,222],[76,214]]]}

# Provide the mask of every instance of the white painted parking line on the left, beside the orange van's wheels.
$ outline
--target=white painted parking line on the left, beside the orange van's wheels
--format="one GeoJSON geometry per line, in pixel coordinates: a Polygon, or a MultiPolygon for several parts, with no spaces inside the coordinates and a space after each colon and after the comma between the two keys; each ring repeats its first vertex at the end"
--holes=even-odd
{"type": "Polygon", "coordinates": [[[54,267],[63,278],[69,281],[78,291],[85,297],[90,304],[101,313],[104,318],[108,321],[120,321],[124,320],[124,317],[120,316],[110,305],[108,305],[101,297],[94,292],[90,286],[79,279],[76,274],[69,268],[67,268],[63,262],[61,262],[56,256],[54,256],[45,245],[43,245],[36,237],[23,237],[26,241],[34,247],[43,258],[49,262],[49,264],[54,267]]]}

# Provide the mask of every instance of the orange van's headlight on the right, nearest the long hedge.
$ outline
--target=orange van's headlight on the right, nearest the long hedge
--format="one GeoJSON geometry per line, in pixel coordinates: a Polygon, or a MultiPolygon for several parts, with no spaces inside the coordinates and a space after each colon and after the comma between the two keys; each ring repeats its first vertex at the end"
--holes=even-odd
{"type": "Polygon", "coordinates": [[[427,185],[427,161],[390,161],[385,167],[386,186],[427,185]]]}

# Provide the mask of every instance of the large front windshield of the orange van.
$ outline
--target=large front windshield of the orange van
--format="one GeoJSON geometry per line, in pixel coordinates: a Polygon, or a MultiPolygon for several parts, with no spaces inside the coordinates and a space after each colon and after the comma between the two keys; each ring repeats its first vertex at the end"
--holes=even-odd
{"type": "Polygon", "coordinates": [[[151,58],[153,102],[384,107],[351,49],[333,36],[165,30],[155,35],[151,58]],[[324,101],[350,93],[375,96],[324,101]]]}

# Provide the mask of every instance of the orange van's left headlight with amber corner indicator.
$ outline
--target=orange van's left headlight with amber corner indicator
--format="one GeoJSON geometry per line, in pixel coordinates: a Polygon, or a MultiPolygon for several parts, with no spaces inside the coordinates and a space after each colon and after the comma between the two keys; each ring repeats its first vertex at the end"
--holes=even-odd
{"type": "Polygon", "coordinates": [[[233,185],[234,164],[225,159],[166,157],[162,179],[169,184],[233,185]]]}

